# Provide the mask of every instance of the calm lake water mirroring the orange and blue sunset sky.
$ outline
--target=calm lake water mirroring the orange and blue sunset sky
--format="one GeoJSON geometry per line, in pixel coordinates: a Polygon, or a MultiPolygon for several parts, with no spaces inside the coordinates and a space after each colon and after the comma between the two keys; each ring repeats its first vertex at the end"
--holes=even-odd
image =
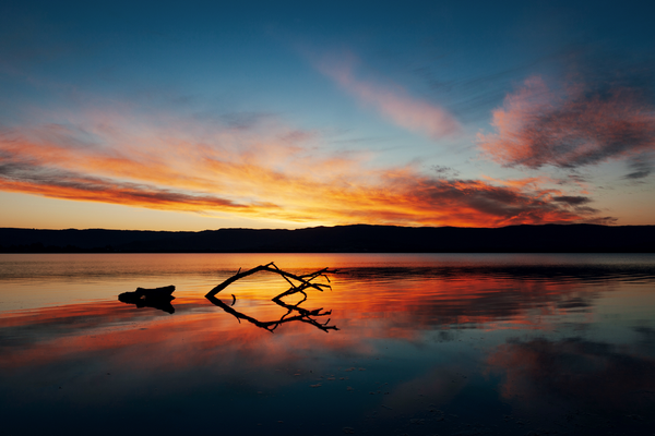
{"type": "Polygon", "coordinates": [[[4,435],[652,435],[655,255],[0,255],[0,411],[4,435]],[[271,261],[338,271],[297,306],[266,272],[203,296],[271,261]],[[117,300],[167,284],[174,314],[117,300]]]}

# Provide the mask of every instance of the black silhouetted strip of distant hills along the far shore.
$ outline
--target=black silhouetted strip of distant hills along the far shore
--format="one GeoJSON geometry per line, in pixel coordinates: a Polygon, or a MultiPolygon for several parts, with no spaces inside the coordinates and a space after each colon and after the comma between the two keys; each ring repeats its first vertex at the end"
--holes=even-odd
{"type": "Polygon", "coordinates": [[[0,228],[0,253],[655,253],[655,226],[336,226],[146,231],[0,228]]]}

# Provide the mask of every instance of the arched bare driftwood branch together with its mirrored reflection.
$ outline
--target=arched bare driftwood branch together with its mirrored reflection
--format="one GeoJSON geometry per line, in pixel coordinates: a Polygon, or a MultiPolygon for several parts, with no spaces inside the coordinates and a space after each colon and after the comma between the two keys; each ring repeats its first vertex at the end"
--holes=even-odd
{"type": "MultiPolygon", "coordinates": [[[[329,330],[338,330],[338,328],[336,328],[336,326],[327,325],[330,323],[330,318],[327,318],[327,320],[325,323],[319,323],[317,319],[314,319],[314,317],[317,317],[317,316],[327,316],[332,313],[332,311],[322,312],[323,311],[322,307],[313,310],[313,311],[309,311],[307,308],[300,307],[300,304],[307,300],[307,293],[305,292],[305,290],[307,288],[318,289],[319,291],[323,291],[324,288],[332,289],[330,287],[330,284],[311,282],[311,280],[315,279],[317,277],[324,277],[327,281],[330,281],[330,279],[326,276],[326,272],[334,272],[334,271],[331,271],[327,268],[323,268],[323,269],[320,269],[320,270],[311,272],[311,274],[297,276],[295,274],[290,274],[290,272],[279,269],[277,266],[275,266],[274,263],[271,262],[270,264],[260,265],[258,267],[254,267],[254,268],[249,269],[243,272],[241,272],[241,269],[239,269],[237,271],[237,274],[235,274],[234,276],[231,276],[230,278],[225,280],[223,283],[221,283],[217,287],[215,287],[214,289],[212,289],[205,295],[205,298],[207,300],[210,300],[212,303],[214,303],[215,305],[217,305],[218,307],[223,308],[228,314],[236,317],[239,322],[241,322],[241,319],[246,319],[247,322],[252,323],[255,326],[266,329],[271,332],[273,332],[273,330],[275,330],[277,328],[277,326],[279,326],[281,324],[290,323],[293,320],[311,324],[312,326],[320,328],[321,330],[323,330],[325,332],[327,332],[329,330]],[[241,312],[234,310],[233,307],[228,306],[227,304],[225,304],[224,302],[222,302],[221,300],[218,300],[216,298],[216,294],[218,292],[223,291],[225,288],[227,288],[230,283],[234,283],[235,281],[242,279],[243,277],[248,277],[248,276],[253,275],[259,271],[269,271],[269,272],[278,274],[291,286],[288,290],[284,291],[283,293],[278,294],[272,299],[275,304],[287,310],[287,313],[284,314],[278,320],[261,322],[259,319],[255,319],[251,316],[245,315],[241,312]],[[299,284],[294,283],[293,280],[299,282],[299,284]],[[283,296],[293,295],[295,293],[301,293],[303,295],[302,300],[300,300],[298,303],[287,304],[284,301],[282,301],[283,296]],[[290,316],[291,314],[294,314],[294,315],[290,316]]],[[[231,305],[234,306],[235,302],[236,302],[236,296],[234,294],[231,296],[233,296],[231,305]]]]}

